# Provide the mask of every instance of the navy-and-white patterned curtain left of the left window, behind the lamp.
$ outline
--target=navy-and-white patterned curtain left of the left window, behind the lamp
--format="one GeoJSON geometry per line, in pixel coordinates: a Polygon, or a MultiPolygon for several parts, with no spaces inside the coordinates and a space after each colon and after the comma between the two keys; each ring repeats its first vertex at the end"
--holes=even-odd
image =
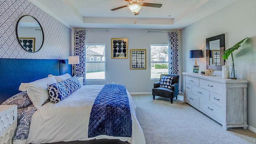
{"type": "Polygon", "coordinates": [[[85,30],[74,31],[75,41],[75,56],[79,56],[80,64],[76,64],[75,75],[83,77],[83,84],[85,85],[85,30]]]}

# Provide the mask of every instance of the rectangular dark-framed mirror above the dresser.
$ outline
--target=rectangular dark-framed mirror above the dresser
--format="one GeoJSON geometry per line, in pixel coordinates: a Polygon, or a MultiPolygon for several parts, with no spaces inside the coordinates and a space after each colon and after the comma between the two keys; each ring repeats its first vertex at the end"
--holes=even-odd
{"type": "Polygon", "coordinates": [[[206,38],[206,68],[222,70],[225,60],[222,58],[225,50],[225,34],[206,38]]]}

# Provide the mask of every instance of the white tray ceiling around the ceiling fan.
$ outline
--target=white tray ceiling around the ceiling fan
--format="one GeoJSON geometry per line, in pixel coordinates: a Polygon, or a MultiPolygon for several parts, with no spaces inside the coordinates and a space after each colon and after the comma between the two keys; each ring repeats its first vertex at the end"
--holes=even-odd
{"type": "Polygon", "coordinates": [[[143,0],[162,7],[142,6],[135,16],[128,7],[111,10],[128,5],[125,0],[30,0],[70,28],[140,29],[182,29],[235,1],[143,0]]]}

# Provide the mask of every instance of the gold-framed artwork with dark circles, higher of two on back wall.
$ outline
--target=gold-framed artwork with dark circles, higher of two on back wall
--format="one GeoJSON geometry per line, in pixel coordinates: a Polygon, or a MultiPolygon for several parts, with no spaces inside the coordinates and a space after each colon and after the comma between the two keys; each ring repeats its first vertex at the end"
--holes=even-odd
{"type": "Polygon", "coordinates": [[[111,58],[128,58],[128,38],[111,38],[111,58]]]}

